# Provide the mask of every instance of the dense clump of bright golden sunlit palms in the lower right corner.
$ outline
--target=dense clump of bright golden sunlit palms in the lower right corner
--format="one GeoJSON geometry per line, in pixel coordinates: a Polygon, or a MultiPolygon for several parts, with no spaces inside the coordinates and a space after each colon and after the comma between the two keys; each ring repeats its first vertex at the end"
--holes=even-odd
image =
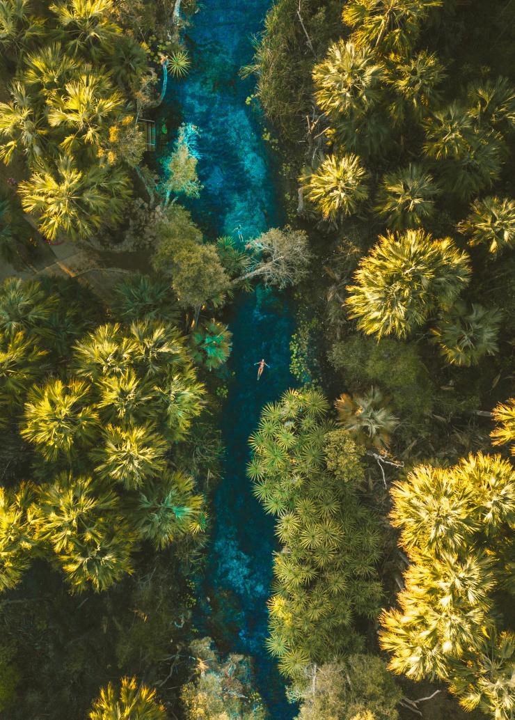
{"type": "Polygon", "coordinates": [[[498,602],[511,583],[511,463],[479,453],[445,469],[419,466],[392,496],[392,522],[411,564],[398,609],[380,620],[390,669],[445,680],[468,710],[509,720],[515,636],[501,631],[498,602]]]}

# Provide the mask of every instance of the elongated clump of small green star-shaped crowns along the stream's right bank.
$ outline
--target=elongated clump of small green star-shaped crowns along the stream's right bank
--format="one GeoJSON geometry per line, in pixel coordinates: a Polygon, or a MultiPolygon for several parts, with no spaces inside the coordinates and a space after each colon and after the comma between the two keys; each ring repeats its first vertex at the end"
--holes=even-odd
{"type": "Polygon", "coordinates": [[[374,567],[380,539],[352,489],[363,477],[360,452],[347,433],[334,437],[327,410],[320,392],[288,390],[263,408],[250,438],[247,472],[265,511],[277,517],[283,544],[274,555],[267,645],[293,680],[304,678],[310,664],[348,651],[356,639],[353,613],[372,617],[380,594],[374,567]],[[355,523],[359,533],[352,532],[355,523]]]}

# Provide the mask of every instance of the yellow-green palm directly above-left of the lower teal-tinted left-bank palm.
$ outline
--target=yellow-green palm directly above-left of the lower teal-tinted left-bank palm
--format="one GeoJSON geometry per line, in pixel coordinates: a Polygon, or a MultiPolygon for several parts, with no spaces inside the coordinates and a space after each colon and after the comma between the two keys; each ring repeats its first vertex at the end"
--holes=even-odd
{"type": "Polygon", "coordinates": [[[95,468],[100,477],[136,490],[165,470],[167,450],[165,438],[151,426],[122,429],[108,425],[104,429],[104,446],[95,449],[92,456],[100,461],[95,468]]]}

